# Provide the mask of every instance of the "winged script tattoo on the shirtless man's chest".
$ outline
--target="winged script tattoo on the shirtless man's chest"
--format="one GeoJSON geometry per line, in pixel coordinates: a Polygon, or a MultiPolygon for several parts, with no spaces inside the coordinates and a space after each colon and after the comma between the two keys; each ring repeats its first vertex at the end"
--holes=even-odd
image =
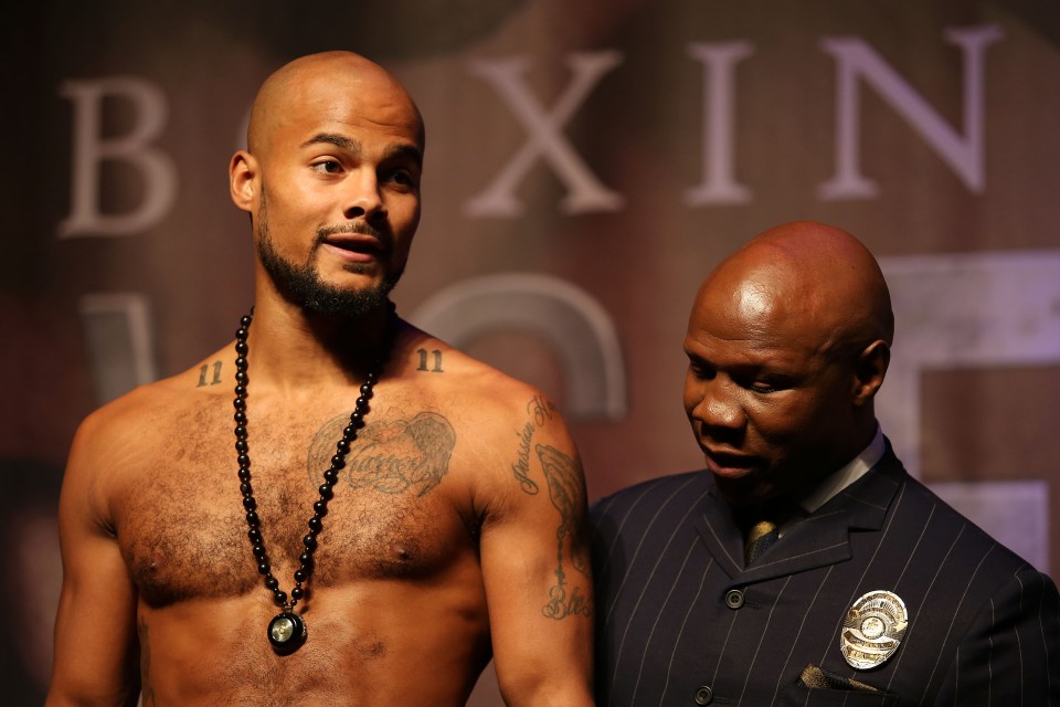
{"type": "MultiPolygon", "coordinates": [[[[314,437],[307,461],[314,484],[322,482],[348,421],[335,418],[314,437]]],[[[339,483],[383,494],[425,496],[448,473],[455,446],[456,431],[435,412],[421,412],[411,420],[368,422],[346,456],[339,483]]]]}

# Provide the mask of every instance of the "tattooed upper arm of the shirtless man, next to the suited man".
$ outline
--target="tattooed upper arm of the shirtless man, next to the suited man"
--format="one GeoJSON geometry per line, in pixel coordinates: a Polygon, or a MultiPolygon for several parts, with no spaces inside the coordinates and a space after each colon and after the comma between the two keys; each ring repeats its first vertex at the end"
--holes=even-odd
{"type": "Polygon", "coordinates": [[[592,669],[585,479],[561,421],[532,432],[515,453],[504,504],[483,526],[497,676],[509,704],[577,704],[592,669]],[[560,692],[537,692],[552,688],[560,692]]]}

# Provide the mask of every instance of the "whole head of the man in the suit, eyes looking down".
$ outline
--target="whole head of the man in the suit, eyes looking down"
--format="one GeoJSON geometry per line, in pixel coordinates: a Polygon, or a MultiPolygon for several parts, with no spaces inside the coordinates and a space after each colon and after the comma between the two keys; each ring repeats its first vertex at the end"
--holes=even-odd
{"type": "Polygon", "coordinates": [[[685,338],[685,410],[721,493],[802,493],[865,450],[892,336],[883,275],[846,231],[785,223],[722,261],[685,338]]]}

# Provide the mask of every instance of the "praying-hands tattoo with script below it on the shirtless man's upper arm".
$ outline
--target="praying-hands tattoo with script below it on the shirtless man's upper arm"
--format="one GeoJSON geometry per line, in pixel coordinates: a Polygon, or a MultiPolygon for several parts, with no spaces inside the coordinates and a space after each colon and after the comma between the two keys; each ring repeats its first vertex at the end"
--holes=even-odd
{"type": "Polygon", "coordinates": [[[549,590],[549,603],[541,608],[541,613],[550,619],[592,616],[592,600],[581,593],[577,584],[568,591],[566,571],[563,569],[566,555],[570,557],[570,566],[586,580],[590,579],[587,563],[582,556],[573,551],[573,544],[577,536],[576,524],[581,517],[580,509],[585,503],[580,464],[576,460],[547,444],[538,444],[534,451],[538,453],[544,477],[549,483],[549,498],[560,513],[560,525],[555,529],[555,584],[549,590]]]}

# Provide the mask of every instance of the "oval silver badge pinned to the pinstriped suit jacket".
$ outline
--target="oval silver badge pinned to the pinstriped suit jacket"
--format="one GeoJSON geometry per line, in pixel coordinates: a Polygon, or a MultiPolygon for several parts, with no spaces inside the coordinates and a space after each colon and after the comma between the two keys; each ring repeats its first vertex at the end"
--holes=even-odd
{"type": "Polygon", "coordinates": [[[839,632],[839,650],[852,668],[879,667],[898,651],[907,626],[905,602],[898,594],[884,590],[869,592],[847,611],[839,632]]]}

